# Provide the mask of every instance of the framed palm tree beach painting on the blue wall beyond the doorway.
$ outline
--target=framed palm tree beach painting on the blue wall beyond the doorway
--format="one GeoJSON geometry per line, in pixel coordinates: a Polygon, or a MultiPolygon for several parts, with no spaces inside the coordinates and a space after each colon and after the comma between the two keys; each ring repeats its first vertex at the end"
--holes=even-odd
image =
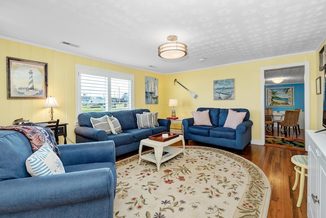
{"type": "Polygon", "coordinates": [[[266,106],[294,106],[294,87],[266,88],[266,106]]]}

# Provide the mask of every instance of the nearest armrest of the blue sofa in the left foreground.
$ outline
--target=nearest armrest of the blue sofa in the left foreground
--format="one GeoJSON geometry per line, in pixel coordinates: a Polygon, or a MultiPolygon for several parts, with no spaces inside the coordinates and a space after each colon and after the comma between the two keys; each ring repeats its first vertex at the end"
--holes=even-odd
{"type": "Polygon", "coordinates": [[[0,214],[102,198],[113,201],[113,185],[110,168],[1,181],[0,214]]]}

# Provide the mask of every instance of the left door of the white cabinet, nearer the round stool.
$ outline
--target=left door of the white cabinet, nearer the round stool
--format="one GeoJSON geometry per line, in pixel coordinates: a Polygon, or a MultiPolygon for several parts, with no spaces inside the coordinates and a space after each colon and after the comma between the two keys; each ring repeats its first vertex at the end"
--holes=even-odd
{"type": "MultiPolygon", "coordinates": [[[[316,151],[319,153],[319,150],[315,147],[311,139],[308,140],[309,152],[308,152],[308,217],[316,218],[317,217],[317,208],[318,203],[314,203],[312,195],[316,196],[317,193],[317,166],[318,166],[318,156],[316,151]]],[[[319,197],[319,196],[318,196],[319,197]]]]}

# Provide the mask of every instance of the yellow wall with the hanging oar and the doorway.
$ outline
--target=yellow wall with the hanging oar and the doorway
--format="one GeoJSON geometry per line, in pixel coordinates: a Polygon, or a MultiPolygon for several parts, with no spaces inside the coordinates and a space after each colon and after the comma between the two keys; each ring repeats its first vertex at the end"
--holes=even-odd
{"type": "Polygon", "coordinates": [[[177,117],[192,117],[191,112],[198,107],[219,108],[247,108],[250,119],[254,122],[252,139],[261,140],[261,68],[298,62],[310,62],[310,128],[318,129],[319,118],[316,113],[315,79],[319,73],[317,69],[315,52],[303,55],[294,55],[282,58],[273,58],[249,63],[234,64],[230,66],[215,67],[191,72],[170,74],[166,79],[166,92],[168,98],[179,99],[176,107],[177,117]],[[199,97],[194,99],[180,85],[173,85],[174,79],[199,97]],[[235,100],[213,100],[213,80],[234,78],[235,100]]]}

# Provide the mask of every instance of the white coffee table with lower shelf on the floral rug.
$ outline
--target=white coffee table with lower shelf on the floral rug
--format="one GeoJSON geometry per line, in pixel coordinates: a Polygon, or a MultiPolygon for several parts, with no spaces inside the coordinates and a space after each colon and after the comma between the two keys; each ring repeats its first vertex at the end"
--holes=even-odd
{"type": "Polygon", "coordinates": [[[143,139],[139,145],[138,164],[140,164],[142,159],[144,159],[156,163],[157,171],[159,171],[159,166],[161,165],[162,162],[172,159],[173,157],[177,156],[182,152],[183,155],[185,155],[183,135],[179,135],[178,137],[168,140],[166,142],[158,142],[150,139],[143,139]],[[182,141],[182,148],[169,146],[179,141],[182,141]],[[155,155],[151,153],[142,155],[143,145],[154,148],[155,155]],[[170,154],[168,156],[162,157],[163,151],[170,152],[170,154]]]}

